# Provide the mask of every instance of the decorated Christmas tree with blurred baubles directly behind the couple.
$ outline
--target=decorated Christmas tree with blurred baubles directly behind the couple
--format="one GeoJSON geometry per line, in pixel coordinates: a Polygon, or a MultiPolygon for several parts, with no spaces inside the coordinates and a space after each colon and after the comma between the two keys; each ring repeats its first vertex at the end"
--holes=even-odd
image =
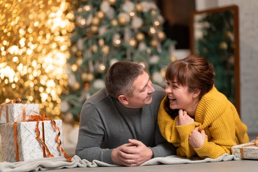
{"type": "Polygon", "coordinates": [[[78,0],[73,8],[69,90],[60,108],[66,122],[79,121],[83,103],[105,86],[106,71],[116,61],[142,64],[153,83],[164,86],[174,42],[166,38],[153,0],[78,0]]]}

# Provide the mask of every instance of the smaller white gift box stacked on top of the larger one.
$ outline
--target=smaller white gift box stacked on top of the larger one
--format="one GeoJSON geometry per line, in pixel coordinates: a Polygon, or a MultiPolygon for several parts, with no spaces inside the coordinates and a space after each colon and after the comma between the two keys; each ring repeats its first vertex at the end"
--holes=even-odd
{"type": "Polygon", "coordinates": [[[28,120],[29,115],[39,114],[39,104],[13,103],[0,106],[0,124],[28,120]],[[23,110],[25,109],[25,112],[23,110]],[[7,111],[6,111],[7,110],[7,111]],[[8,115],[6,118],[6,114],[8,115]],[[25,115],[25,116],[23,116],[25,115]],[[25,118],[25,119],[24,119],[25,118]],[[6,120],[7,119],[7,120],[6,120]]]}

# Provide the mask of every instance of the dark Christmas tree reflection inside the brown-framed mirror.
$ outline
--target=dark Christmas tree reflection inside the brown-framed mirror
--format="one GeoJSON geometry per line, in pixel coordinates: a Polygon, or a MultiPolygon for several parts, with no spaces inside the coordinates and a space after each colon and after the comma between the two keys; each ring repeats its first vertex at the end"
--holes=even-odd
{"type": "Polygon", "coordinates": [[[235,40],[234,12],[224,10],[204,13],[195,18],[196,54],[206,57],[215,69],[215,86],[235,102],[235,40]]]}

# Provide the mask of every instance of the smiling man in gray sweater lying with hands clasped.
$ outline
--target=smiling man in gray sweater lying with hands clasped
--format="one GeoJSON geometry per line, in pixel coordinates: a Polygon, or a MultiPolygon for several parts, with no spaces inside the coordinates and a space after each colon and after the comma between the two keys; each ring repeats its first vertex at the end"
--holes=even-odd
{"type": "Polygon", "coordinates": [[[84,103],[76,154],[88,161],[139,166],[175,154],[157,125],[164,89],[152,85],[143,66],[113,64],[102,88],[84,103]],[[154,87],[153,87],[154,86],[154,87]]]}

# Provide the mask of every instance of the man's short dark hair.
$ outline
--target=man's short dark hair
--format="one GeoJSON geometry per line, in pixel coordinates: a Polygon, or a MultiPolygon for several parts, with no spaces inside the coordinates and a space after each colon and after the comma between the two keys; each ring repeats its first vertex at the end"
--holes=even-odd
{"type": "Polygon", "coordinates": [[[131,61],[118,61],[108,70],[106,75],[106,89],[108,93],[118,98],[119,95],[133,96],[134,81],[143,74],[143,66],[131,61]]]}

